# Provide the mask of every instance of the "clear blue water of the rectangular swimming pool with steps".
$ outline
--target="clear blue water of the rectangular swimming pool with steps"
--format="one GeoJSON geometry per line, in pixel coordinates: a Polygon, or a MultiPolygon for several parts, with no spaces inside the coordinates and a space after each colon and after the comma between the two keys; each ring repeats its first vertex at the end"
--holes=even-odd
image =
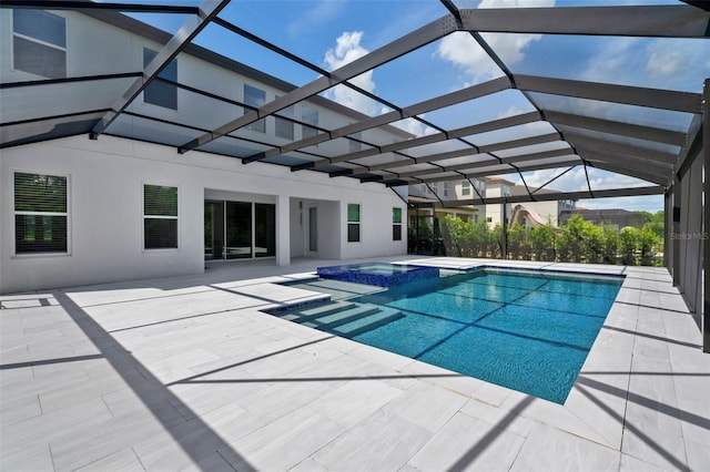
{"type": "Polygon", "coordinates": [[[564,403],[623,277],[478,269],[386,290],[335,280],[333,301],[276,316],[564,403]]]}

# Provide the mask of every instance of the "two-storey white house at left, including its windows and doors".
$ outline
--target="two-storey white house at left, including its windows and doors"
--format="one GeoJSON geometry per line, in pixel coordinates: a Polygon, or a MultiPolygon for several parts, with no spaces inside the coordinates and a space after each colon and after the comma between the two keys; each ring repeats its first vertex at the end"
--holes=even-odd
{"type": "MultiPolygon", "coordinates": [[[[2,84],[44,78],[67,88],[60,85],[63,78],[141,71],[170,38],[116,13],[1,9],[0,25],[2,84]],[[97,37],[105,43],[87,41],[97,37]]],[[[392,188],[274,165],[288,164],[288,155],[250,165],[224,155],[255,153],[266,148],[258,142],[288,143],[364,115],[315,96],[283,111],[284,119],[270,116],[236,132],[254,143],[247,150],[215,140],[204,151],[179,154],[165,144],[175,136],[170,123],[190,114],[214,129],[237,110],[247,112],[294,86],[194,44],[160,78],[165,80],[151,83],[95,141],[50,125],[32,131],[42,142],[22,144],[31,137],[22,134],[24,126],[2,130],[0,293],[194,274],[204,270],[205,259],[273,258],[288,265],[294,257],[406,254],[407,205],[392,188]],[[174,84],[178,78],[232,103],[195,100],[174,84]],[[74,135],[58,137],[65,134],[74,135]]],[[[10,90],[3,93],[2,122],[26,122],[21,117],[30,112],[87,111],[94,111],[88,120],[95,121],[133,80],[115,76],[100,86],[77,85],[73,94],[39,98],[10,90]]],[[[396,127],[375,132],[382,142],[412,137],[396,127]]],[[[320,151],[352,152],[352,142],[339,141],[320,151]]]]}

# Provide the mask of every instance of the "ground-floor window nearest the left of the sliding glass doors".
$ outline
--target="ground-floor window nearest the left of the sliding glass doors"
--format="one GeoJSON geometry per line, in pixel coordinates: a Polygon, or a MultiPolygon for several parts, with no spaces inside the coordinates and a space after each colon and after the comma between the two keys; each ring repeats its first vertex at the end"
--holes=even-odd
{"type": "Polygon", "coordinates": [[[178,187],[143,185],[143,247],[178,247],[178,187]]]}

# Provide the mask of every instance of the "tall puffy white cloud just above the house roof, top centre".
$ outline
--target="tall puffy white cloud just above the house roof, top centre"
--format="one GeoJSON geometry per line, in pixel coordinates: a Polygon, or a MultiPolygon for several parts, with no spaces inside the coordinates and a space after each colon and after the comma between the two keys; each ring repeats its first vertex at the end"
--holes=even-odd
{"type": "MultiPolygon", "coordinates": [[[[327,50],[325,53],[324,62],[326,69],[334,71],[367,54],[369,51],[361,44],[362,39],[362,31],[346,31],[341,34],[336,40],[335,48],[327,50]]],[[[375,91],[373,71],[359,74],[351,79],[349,82],[367,92],[375,91]]],[[[327,90],[325,96],[371,116],[381,111],[377,102],[344,85],[336,85],[327,90]]]]}

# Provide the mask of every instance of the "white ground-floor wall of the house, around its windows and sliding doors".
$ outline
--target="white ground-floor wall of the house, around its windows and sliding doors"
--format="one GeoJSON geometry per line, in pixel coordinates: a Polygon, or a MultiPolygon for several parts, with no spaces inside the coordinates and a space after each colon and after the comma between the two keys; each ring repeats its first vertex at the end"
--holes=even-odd
{"type": "MultiPolygon", "coordinates": [[[[74,136],[6,148],[0,171],[0,293],[201,273],[204,201],[210,196],[239,196],[277,206],[298,199],[322,203],[320,257],[406,254],[406,240],[392,240],[392,208],[406,212],[402,199],[382,185],[345,177],[292,173],[261,163],[245,166],[200,152],[183,156],[173,147],[113,136],[98,141],[74,136]],[[68,177],[68,254],[16,255],[14,172],[68,177]],[[178,187],[178,249],[143,249],[143,184],[178,187]],[[347,203],[362,205],[361,243],[347,243],[347,203]]],[[[292,211],[287,215],[285,222],[277,222],[282,228],[276,234],[282,253],[277,260],[284,250],[295,252],[291,234],[297,230],[298,218],[292,211]]]]}

